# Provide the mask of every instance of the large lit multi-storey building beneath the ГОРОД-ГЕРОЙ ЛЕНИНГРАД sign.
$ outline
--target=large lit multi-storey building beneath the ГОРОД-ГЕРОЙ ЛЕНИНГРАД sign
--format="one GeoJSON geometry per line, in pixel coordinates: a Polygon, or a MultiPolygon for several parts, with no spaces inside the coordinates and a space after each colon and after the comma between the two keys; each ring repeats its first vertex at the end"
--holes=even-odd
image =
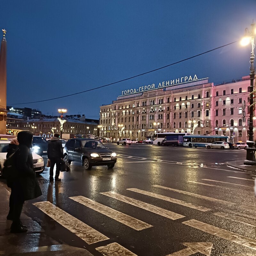
{"type": "Polygon", "coordinates": [[[249,76],[215,85],[207,78],[189,83],[182,78],[182,83],[165,81],[156,89],[155,84],[133,87],[112,104],[102,105],[100,136],[140,140],[157,132],[189,132],[232,136],[234,142],[248,140],[249,76]]]}

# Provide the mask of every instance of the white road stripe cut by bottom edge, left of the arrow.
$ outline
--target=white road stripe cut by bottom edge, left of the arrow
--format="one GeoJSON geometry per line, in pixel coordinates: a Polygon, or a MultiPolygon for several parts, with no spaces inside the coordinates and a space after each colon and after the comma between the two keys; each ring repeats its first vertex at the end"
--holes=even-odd
{"type": "Polygon", "coordinates": [[[95,249],[105,256],[138,256],[117,243],[107,244],[95,249]]]}

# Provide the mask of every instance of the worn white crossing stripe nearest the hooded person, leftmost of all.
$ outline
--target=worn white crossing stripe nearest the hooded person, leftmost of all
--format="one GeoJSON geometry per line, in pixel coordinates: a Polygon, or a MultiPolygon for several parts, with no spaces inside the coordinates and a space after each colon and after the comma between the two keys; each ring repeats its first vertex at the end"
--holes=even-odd
{"type": "Polygon", "coordinates": [[[70,232],[80,237],[87,244],[94,244],[109,239],[99,231],[91,228],[81,220],[76,219],[48,201],[34,203],[34,205],[53,220],[60,223],[64,228],[67,228],[70,232]]]}

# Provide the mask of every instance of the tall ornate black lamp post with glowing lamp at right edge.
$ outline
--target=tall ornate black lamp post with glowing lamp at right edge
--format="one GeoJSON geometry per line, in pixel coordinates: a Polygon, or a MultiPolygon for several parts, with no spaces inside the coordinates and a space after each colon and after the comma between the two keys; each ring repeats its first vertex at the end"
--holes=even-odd
{"type": "Polygon", "coordinates": [[[249,142],[247,142],[248,148],[246,148],[246,160],[244,160],[244,164],[246,165],[256,165],[255,160],[255,148],[253,147],[253,116],[254,116],[254,90],[253,90],[253,82],[255,78],[255,68],[254,68],[254,36],[256,35],[256,28],[255,23],[251,24],[251,31],[248,28],[245,28],[245,37],[241,40],[242,45],[246,45],[250,43],[251,39],[251,46],[252,52],[250,57],[250,123],[249,123],[249,142]]]}

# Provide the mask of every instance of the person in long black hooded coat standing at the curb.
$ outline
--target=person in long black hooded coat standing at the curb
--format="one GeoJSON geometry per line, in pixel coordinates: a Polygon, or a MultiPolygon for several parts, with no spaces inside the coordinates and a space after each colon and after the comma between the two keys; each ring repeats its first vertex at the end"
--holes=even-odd
{"type": "Polygon", "coordinates": [[[28,228],[22,225],[20,221],[20,214],[22,212],[24,201],[42,195],[38,181],[36,180],[36,173],[33,169],[33,157],[30,150],[30,148],[32,148],[32,139],[32,132],[22,131],[17,135],[19,145],[14,156],[19,175],[18,178],[12,180],[11,185],[13,212],[10,214],[9,219],[12,219],[12,233],[28,231],[28,228]]]}

